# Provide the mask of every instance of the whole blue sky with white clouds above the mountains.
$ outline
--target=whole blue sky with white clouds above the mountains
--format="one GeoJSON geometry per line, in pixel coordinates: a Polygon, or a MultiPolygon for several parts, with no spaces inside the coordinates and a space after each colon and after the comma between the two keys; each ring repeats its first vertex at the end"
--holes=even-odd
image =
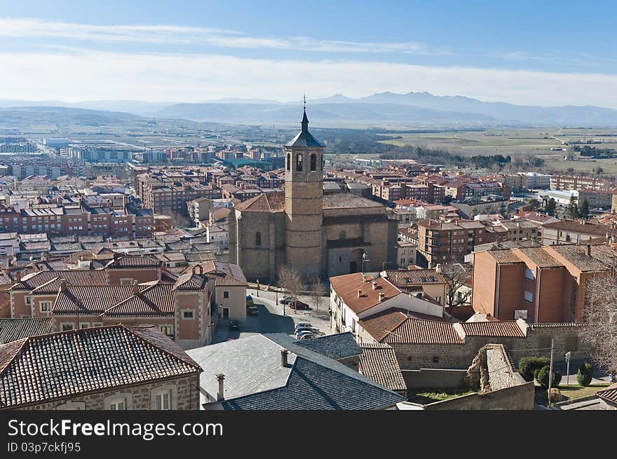
{"type": "Polygon", "coordinates": [[[390,91],[617,109],[614,1],[0,0],[0,99],[390,91]]]}

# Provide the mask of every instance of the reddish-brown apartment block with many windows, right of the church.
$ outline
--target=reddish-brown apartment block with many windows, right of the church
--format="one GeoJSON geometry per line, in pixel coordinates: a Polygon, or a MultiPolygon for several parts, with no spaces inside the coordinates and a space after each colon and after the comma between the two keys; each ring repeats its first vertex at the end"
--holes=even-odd
{"type": "Polygon", "coordinates": [[[418,253],[426,259],[428,268],[438,264],[463,263],[474,245],[493,242],[480,221],[423,220],[418,223],[418,253]]]}

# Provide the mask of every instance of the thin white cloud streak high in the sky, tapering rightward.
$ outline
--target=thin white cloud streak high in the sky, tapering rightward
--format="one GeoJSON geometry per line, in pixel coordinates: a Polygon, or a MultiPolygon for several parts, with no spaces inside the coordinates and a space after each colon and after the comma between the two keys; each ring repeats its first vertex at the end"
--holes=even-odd
{"type": "Polygon", "coordinates": [[[184,25],[89,25],[27,18],[0,18],[0,37],[13,39],[71,39],[99,43],[154,43],[319,51],[323,53],[446,54],[423,43],[364,43],[316,40],[308,37],[264,38],[233,30],[184,25]]]}

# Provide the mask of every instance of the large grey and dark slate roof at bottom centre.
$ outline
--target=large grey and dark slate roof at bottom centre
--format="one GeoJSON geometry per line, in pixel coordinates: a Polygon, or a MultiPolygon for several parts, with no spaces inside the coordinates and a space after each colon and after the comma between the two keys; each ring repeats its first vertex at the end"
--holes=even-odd
{"type": "Polygon", "coordinates": [[[286,334],[259,334],[187,353],[203,362],[200,385],[210,395],[217,393],[215,375],[225,375],[223,409],[382,409],[404,399],[297,343],[286,334]],[[290,352],[286,367],[281,348],[290,352]]]}

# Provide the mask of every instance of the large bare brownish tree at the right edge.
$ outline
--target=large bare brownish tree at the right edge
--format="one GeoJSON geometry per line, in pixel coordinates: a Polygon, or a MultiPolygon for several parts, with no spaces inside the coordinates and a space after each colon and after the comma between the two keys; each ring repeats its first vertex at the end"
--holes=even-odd
{"type": "Polygon", "coordinates": [[[585,324],[581,340],[594,362],[609,373],[617,371],[617,271],[595,275],[585,286],[585,324]]]}

